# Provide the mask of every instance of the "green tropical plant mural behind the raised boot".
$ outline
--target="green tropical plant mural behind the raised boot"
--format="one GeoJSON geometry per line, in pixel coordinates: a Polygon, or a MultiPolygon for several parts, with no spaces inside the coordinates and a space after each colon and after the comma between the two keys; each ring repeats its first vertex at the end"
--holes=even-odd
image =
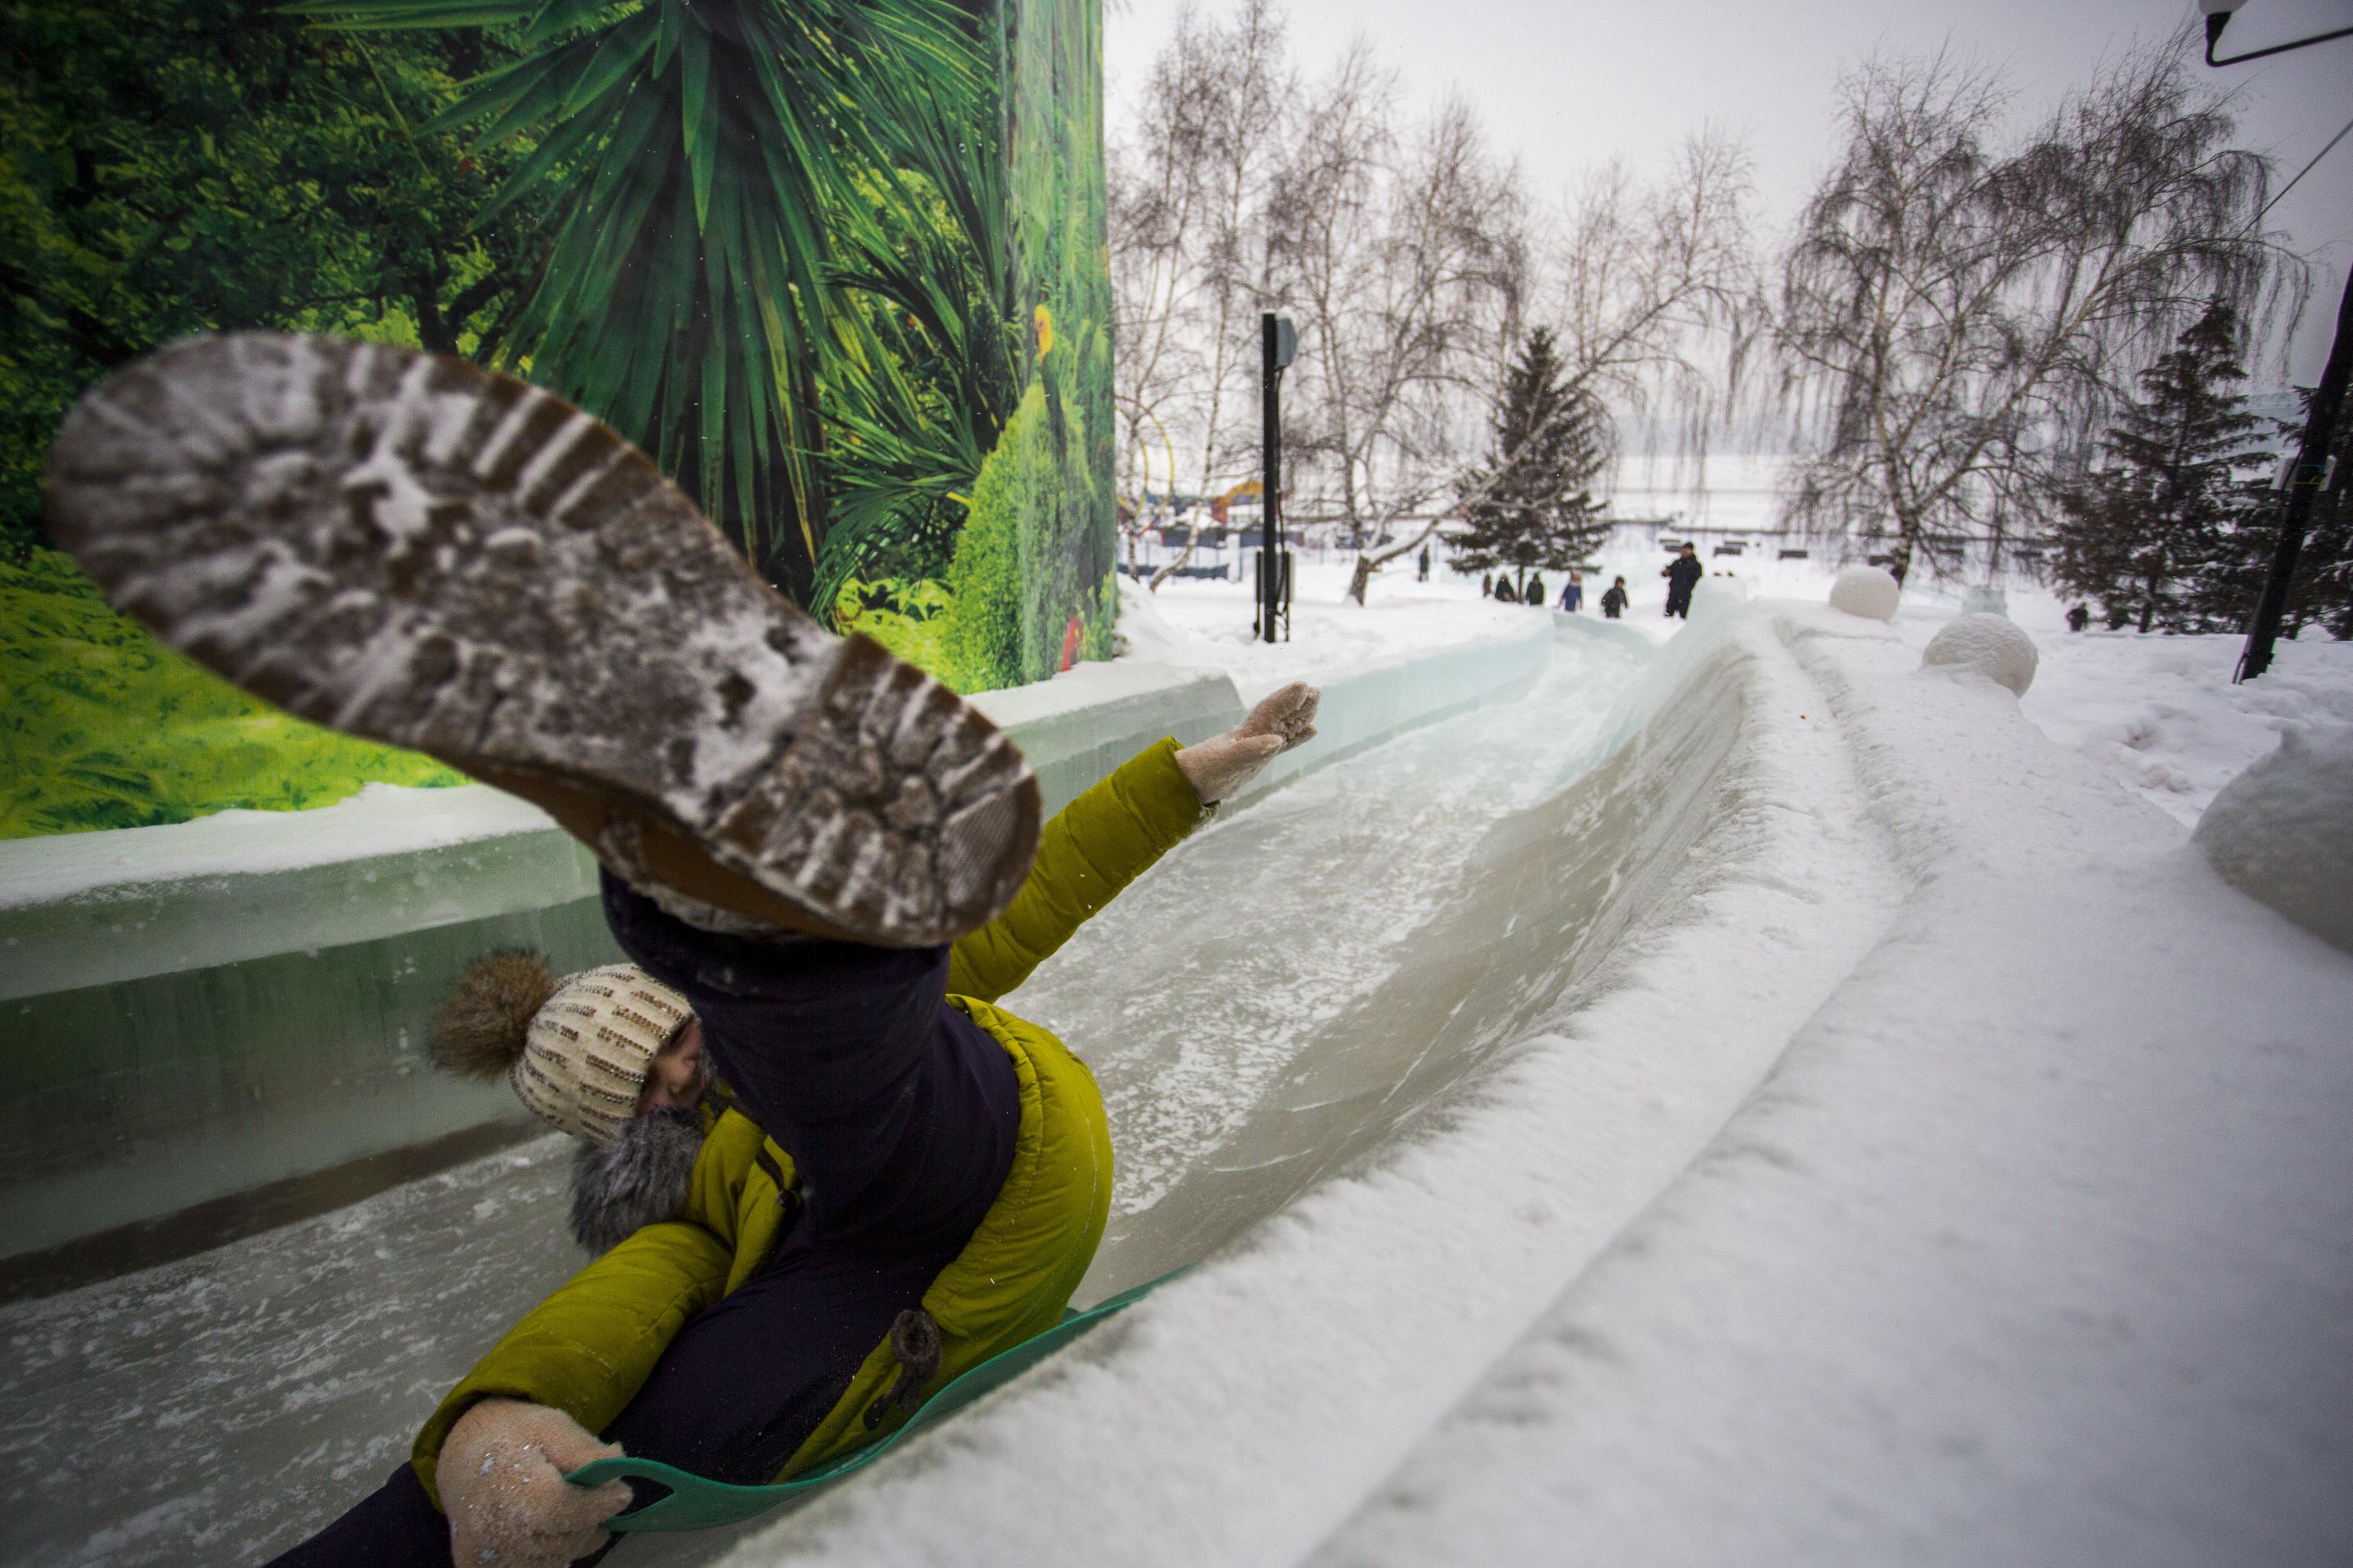
{"type": "Polygon", "coordinates": [[[254,705],[45,548],[56,421],[188,331],[372,336],[565,393],[786,595],[962,691],[1108,656],[1099,0],[0,16],[0,837],[454,780],[278,715],[219,766],[207,736],[254,705]]]}

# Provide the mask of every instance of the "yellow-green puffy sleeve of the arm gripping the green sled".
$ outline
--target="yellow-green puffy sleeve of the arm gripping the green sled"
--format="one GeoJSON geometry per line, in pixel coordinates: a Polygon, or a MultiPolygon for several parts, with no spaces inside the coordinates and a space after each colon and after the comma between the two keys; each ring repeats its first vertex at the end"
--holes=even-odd
{"type": "Polygon", "coordinates": [[[449,1389],[409,1448],[433,1507],[442,1443],[478,1399],[527,1399],[602,1432],[654,1375],[687,1316],[720,1298],[727,1262],[727,1244],[704,1225],[647,1225],[532,1307],[449,1389]]]}

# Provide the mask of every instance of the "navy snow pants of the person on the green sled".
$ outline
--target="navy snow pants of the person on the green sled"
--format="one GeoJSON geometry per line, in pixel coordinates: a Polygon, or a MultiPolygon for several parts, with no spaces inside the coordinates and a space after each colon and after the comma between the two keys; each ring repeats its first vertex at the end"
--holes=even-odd
{"type": "MultiPolygon", "coordinates": [[[[605,919],[631,961],[685,992],[720,1081],[793,1157],[802,1204],[602,1436],[760,1486],[972,1239],[1012,1168],[1019,1081],[1005,1046],[946,1006],[946,947],[713,936],[612,875],[605,919]]],[[[402,1465],[275,1561],[447,1568],[449,1521],[402,1465]]]]}

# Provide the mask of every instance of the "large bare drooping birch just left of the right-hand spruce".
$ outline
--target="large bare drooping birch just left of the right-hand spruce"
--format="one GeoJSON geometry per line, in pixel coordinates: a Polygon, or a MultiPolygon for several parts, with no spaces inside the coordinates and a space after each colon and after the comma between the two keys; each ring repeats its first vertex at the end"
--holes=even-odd
{"type": "MultiPolygon", "coordinates": [[[[1998,78],[1875,56],[1781,266],[1774,346],[1817,451],[1786,517],[1901,578],[2045,527],[2132,374],[2214,296],[2301,292],[2254,228],[2268,165],[2177,47],[2122,59],[2017,150],[1998,78]]],[[[2285,263],[2285,266],[2282,266],[2285,263]]]]}

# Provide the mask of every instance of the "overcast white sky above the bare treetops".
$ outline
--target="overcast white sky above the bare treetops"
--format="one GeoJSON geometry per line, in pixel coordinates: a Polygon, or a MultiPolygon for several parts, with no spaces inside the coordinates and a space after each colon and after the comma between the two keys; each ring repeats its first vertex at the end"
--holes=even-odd
{"type": "MultiPolygon", "coordinates": [[[[1224,12],[1231,0],[1198,0],[1224,12]]],[[[1704,122],[1748,141],[1762,219],[1779,228],[1831,160],[1840,68],[1875,45],[1932,52],[1951,42],[2000,66],[2021,118],[2040,115],[2089,78],[2101,56],[2155,40],[2193,0],[1285,0],[1292,49],[1313,73],[1362,33],[1412,101],[1449,89],[1480,110],[1499,150],[1537,188],[1560,188],[1612,155],[1659,169],[1704,122]]],[[[1176,7],[1108,0],[1104,71],[1113,134],[1176,7]]],[[[2353,26],[2353,0],[2247,0],[2224,52],[2353,26]]],[[[2240,94],[2240,143],[2271,153],[2285,181],[2353,118],[2353,38],[2252,66],[2198,71],[2240,94]]],[[[2311,383],[2327,360],[2346,266],[2353,263],[2353,136],[2280,202],[2271,223],[2313,254],[2313,303],[2292,348],[2311,383]]],[[[2273,383],[2275,362],[2257,374],[2273,383]]]]}

